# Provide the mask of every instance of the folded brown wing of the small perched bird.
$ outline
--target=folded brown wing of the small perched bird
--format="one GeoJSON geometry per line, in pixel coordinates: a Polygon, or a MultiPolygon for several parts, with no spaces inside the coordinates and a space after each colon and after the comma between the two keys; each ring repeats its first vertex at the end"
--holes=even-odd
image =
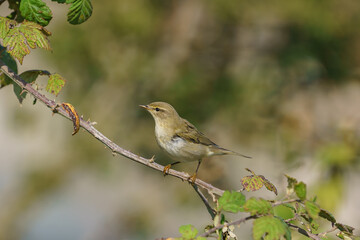
{"type": "Polygon", "coordinates": [[[181,124],[181,128],[178,128],[175,131],[175,135],[181,137],[187,141],[203,144],[203,145],[214,145],[217,146],[213,141],[205,137],[203,133],[196,129],[194,125],[192,125],[186,119],[182,119],[185,124],[181,124]]]}

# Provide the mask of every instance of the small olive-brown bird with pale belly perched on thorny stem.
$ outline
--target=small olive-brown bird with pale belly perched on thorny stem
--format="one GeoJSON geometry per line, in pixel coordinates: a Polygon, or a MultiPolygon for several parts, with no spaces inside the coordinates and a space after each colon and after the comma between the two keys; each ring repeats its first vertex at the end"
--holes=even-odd
{"type": "Polygon", "coordinates": [[[179,116],[168,103],[153,102],[140,105],[145,108],[155,120],[155,137],[158,145],[177,162],[168,164],[164,168],[166,174],[171,166],[180,162],[198,161],[195,173],[189,178],[194,183],[201,161],[205,157],[214,155],[238,155],[251,158],[240,153],[227,150],[215,144],[194,125],[179,116]]]}

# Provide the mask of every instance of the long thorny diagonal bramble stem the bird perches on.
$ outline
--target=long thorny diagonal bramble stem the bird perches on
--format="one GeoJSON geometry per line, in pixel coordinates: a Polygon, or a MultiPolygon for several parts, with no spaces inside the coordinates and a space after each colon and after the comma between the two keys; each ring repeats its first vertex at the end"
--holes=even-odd
{"type": "MultiPolygon", "coordinates": [[[[19,75],[17,75],[14,71],[9,69],[9,67],[0,60],[0,68],[3,73],[5,73],[9,78],[11,78],[17,85],[19,85],[23,90],[30,93],[34,98],[37,100],[43,102],[48,108],[52,109],[53,112],[60,114],[61,116],[71,120],[69,114],[61,107],[58,107],[58,104],[55,101],[52,101],[45,97],[45,95],[39,93],[36,91],[30,83],[27,83],[23,79],[20,78],[19,75]],[[56,109],[56,111],[55,111],[56,109]]],[[[152,169],[155,169],[157,171],[162,172],[164,169],[164,166],[157,164],[153,162],[153,159],[147,159],[144,157],[141,157],[139,155],[136,155],[126,149],[121,148],[114,142],[112,142],[110,139],[105,137],[101,132],[99,132],[89,121],[85,121],[84,119],[80,118],[80,126],[85,129],[87,132],[89,132],[91,135],[93,135],[97,140],[102,142],[104,145],[106,145],[113,153],[118,153],[130,160],[133,160],[137,163],[140,163],[142,165],[145,165],[147,167],[150,167],[152,169]]],[[[189,181],[190,175],[184,172],[179,172],[174,169],[169,169],[168,175],[171,175],[173,177],[179,178],[183,181],[189,181]]],[[[200,179],[196,179],[195,183],[196,186],[199,186],[203,189],[206,189],[210,194],[216,194],[218,196],[221,196],[224,193],[224,190],[216,188],[212,186],[211,184],[204,182],[200,179]]]]}

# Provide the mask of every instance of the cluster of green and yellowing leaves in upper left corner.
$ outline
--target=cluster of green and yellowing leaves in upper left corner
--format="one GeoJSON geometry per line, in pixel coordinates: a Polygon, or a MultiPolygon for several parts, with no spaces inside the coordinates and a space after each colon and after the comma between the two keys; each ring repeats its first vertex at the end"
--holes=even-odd
{"type": "MultiPolygon", "coordinates": [[[[54,0],[58,3],[70,4],[68,22],[80,24],[85,22],[92,14],[90,0],[54,0]]],[[[2,1],[0,4],[2,4],[2,1]]],[[[9,0],[9,8],[13,12],[7,16],[0,16],[0,60],[12,71],[18,74],[16,60],[23,63],[24,57],[30,54],[31,49],[42,48],[51,50],[49,32],[45,26],[52,19],[51,9],[41,0],[9,0]],[[16,59],[16,60],[15,60],[16,59]]],[[[51,74],[46,70],[30,70],[20,74],[27,83],[34,84],[39,76],[47,76],[48,83],[46,91],[58,95],[65,85],[65,79],[57,73],[51,74]]],[[[26,92],[15,84],[9,76],[0,74],[0,88],[13,84],[14,93],[19,102],[22,103],[26,92]]],[[[34,103],[36,101],[34,100],[34,103]]]]}

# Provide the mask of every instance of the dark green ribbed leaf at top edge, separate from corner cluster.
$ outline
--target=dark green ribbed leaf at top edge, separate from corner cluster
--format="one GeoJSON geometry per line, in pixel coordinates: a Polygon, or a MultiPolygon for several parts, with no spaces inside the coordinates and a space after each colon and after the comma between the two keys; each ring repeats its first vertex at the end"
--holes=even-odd
{"type": "Polygon", "coordinates": [[[90,0],[73,0],[68,12],[68,22],[71,24],[81,24],[85,22],[92,14],[92,5],[90,0]]]}

